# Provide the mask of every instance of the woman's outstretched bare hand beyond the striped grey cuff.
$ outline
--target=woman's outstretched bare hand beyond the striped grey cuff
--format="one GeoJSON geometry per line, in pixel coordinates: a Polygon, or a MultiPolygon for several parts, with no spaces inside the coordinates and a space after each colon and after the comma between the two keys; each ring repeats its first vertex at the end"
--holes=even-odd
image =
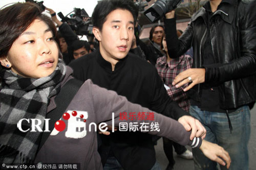
{"type": "Polygon", "coordinates": [[[203,154],[212,161],[216,161],[219,164],[229,168],[231,159],[227,151],[225,151],[218,144],[208,142],[206,140],[202,141],[200,150],[203,154]]]}

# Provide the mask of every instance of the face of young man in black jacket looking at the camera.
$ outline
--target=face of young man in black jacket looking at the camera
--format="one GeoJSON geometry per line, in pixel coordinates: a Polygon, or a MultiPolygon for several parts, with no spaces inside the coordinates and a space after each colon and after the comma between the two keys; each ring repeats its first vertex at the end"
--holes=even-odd
{"type": "Polygon", "coordinates": [[[106,61],[115,65],[130,51],[134,36],[134,18],[130,11],[116,9],[106,16],[101,31],[94,29],[100,54],[106,61]]]}

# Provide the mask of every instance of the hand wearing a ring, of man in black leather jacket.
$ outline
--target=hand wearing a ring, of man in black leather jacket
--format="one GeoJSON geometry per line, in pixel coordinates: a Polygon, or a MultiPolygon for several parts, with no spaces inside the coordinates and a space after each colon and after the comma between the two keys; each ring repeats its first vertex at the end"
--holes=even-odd
{"type": "Polygon", "coordinates": [[[173,81],[173,85],[176,88],[183,86],[186,83],[190,83],[184,91],[189,90],[196,84],[204,83],[205,81],[205,69],[204,68],[190,68],[181,72],[173,81]]]}

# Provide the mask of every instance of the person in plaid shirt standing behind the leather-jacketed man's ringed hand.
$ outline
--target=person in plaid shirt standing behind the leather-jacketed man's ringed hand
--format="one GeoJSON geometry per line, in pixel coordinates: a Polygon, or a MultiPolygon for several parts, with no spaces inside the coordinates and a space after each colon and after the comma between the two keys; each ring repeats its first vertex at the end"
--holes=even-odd
{"type": "MultiPolygon", "coordinates": [[[[178,37],[181,35],[180,32],[177,31],[178,37]]],[[[183,88],[176,88],[172,85],[174,78],[182,71],[190,68],[193,63],[193,59],[190,55],[182,55],[181,57],[172,59],[169,57],[167,53],[167,44],[165,40],[165,34],[162,37],[161,48],[166,53],[165,56],[157,59],[156,68],[159,76],[161,77],[163,83],[165,84],[167,94],[172,98],[172,100],[176,101],[178,105],[185,111],[189,111],[189,100],[186,93],[183,91],[183,88]]],[[[173,157],[173,145],[175,151],[178,156],[183,157],[185,159],[193,159],[193,154],[187,150],[184,146],[169,140],[167,138],[163,138],[163,148],[164,153],[169,160],[169,164],[166,168],[173,169],[175,164],[175,160],[173,157]]]]}

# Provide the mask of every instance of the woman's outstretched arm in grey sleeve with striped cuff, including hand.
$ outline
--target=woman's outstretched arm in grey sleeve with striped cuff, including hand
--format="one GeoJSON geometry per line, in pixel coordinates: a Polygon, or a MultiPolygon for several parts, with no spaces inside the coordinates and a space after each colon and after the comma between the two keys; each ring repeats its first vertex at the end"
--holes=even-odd
{"type": "MultiPolygon", "coordinates": [[[[91,98],[95,108],[95,114],[97,122],[105,122],[112,124],[112,112],[114,112],[115,126],[118,126],[120,122],[123,122],[119,118],[120,112],[132,113],[132,112],[153,112],[147,108],[143,108],[140,105],[132,104],[127,101],[123,96],[117,95],[116,92],[100,88],[97,85],[92,84],[92,82],[86,81],[83,85],[91,91],[91,98]]],[[[187,132],[184,127],[178,123],[176,120],[166,117],[162,114],[154,113],[154,118],[151,120],[138,120],[138,119],[128,119],[125,120],[127,123],[153,123],[158,125],[158,130],[154,131],[139,131],[144,133],[150,133],[153,135],[164,136],[171,140],[174,140],[182,145],[190,145],[192,147],[199,148],[202,150],[204,155],[211,160],[214,160],[222,165],[227,164],[227,168],[230,166],[230,157],[228,153],[219,145],[208,142],[206,140],[201,141],[199,138],[194,138],[189,140],[190,132],[187,132]],[[226,163],[225,163],[225,162],[226,163]]]]}

